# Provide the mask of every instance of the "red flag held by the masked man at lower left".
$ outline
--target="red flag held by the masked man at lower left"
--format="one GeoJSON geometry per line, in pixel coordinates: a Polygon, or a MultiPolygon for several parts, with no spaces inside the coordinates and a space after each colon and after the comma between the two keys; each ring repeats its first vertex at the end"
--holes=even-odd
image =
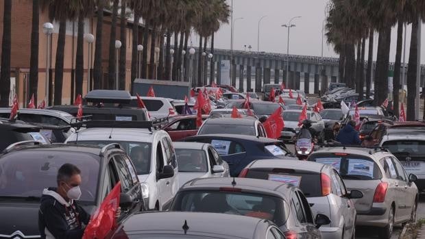
{"type": "Polygon", "coordinates": [[[84,230],[83,239],[104,239],[108,233],[117,225],[117,210],[119,207],[119,195],[121,193],[121,182],[112,188],[108,196],[101,203],[99,209],[93,214],[90,222],[84,230]]]}

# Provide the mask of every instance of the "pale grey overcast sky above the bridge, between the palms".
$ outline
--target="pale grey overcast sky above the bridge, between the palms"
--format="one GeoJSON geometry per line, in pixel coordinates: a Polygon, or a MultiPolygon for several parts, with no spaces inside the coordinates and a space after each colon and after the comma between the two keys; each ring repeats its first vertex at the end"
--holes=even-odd
{"type": "MultiPolygon", "coordinates": [[[[230,1],[228,3],[230,5],[230,1]]],[[[293,16],[302,16],[295,19],[291,28],[289,53],[296,55],[321,54],[321,28],[324,22],[325,8],[328,0],[234,0],[233,16],[243,17],[234,24],[234,49],[243,50],[244,45],[252,46],[252,51],[257,50],[258,20],[267,15],[260,25],[260,51],[273,53],[287,52],[287,24],[293,16]]],[[[393,28],[391,40],[391,62],[396,55],[396,27],[393,28]]],[[[406,62],[409,61],[410,27],[407,30],[406,62]]],[[[425,26],[422,26],[422,62],[425,62],[425,26]]],[[[197,46],[198,38],[194,36],[193,45],[197,46]]],[[[374,59],[378,34],[374,42],[374,59]]],[[[215,47],[230,49],[230,24],[221,26],[215,34],[215,47]]],[[[248,50],[248,49],[247,49],[248,50]]],[[[367,51],[366,51],[367,52],[367,51]]],[[[367,54],[366,54],[367,55],[367,54]]],[[[324,39],[324,56],[337,57],[331,45],[324,39]]]]}

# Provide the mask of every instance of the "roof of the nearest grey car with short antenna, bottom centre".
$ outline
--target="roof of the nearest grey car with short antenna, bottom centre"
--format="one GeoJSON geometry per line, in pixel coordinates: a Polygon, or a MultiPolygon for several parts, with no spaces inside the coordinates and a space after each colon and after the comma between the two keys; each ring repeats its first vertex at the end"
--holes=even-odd
{"type": "Polygon", "coordinates": [[[108,238],[282,239],[276,225],[265,219],[218,213],[145,212],[123,221],[108,238]],[[141,227],[143,225],[143,227],[141,227]],[[235,228],[243,228],[237,230],[235,228]]]}

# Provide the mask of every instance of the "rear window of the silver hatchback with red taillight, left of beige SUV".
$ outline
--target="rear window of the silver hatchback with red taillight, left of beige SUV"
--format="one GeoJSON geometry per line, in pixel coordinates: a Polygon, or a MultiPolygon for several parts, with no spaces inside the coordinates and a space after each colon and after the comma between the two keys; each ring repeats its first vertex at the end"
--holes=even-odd
{"type": "MultiPolygon", "coordinates": [[[[277,181],[277,177],[284,177],[292,180],[306,197],[321,197],[320,174],[304,171],[296,171],[289,168],[250,168],[246,177],[252,179],[265,179],[277,181]]],[[[287,181],[282,181],[287,182],[287,181]]]]}

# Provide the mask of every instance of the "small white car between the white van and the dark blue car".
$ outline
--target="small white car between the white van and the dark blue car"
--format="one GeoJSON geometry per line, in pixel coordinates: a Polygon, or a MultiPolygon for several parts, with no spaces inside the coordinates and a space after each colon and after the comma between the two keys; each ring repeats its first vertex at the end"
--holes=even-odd
{"type": "Polygon", "coordinates": [[[229,165],[211,144],[174,142],[180,186],[198,177],[229,177],[229,165]]]}

